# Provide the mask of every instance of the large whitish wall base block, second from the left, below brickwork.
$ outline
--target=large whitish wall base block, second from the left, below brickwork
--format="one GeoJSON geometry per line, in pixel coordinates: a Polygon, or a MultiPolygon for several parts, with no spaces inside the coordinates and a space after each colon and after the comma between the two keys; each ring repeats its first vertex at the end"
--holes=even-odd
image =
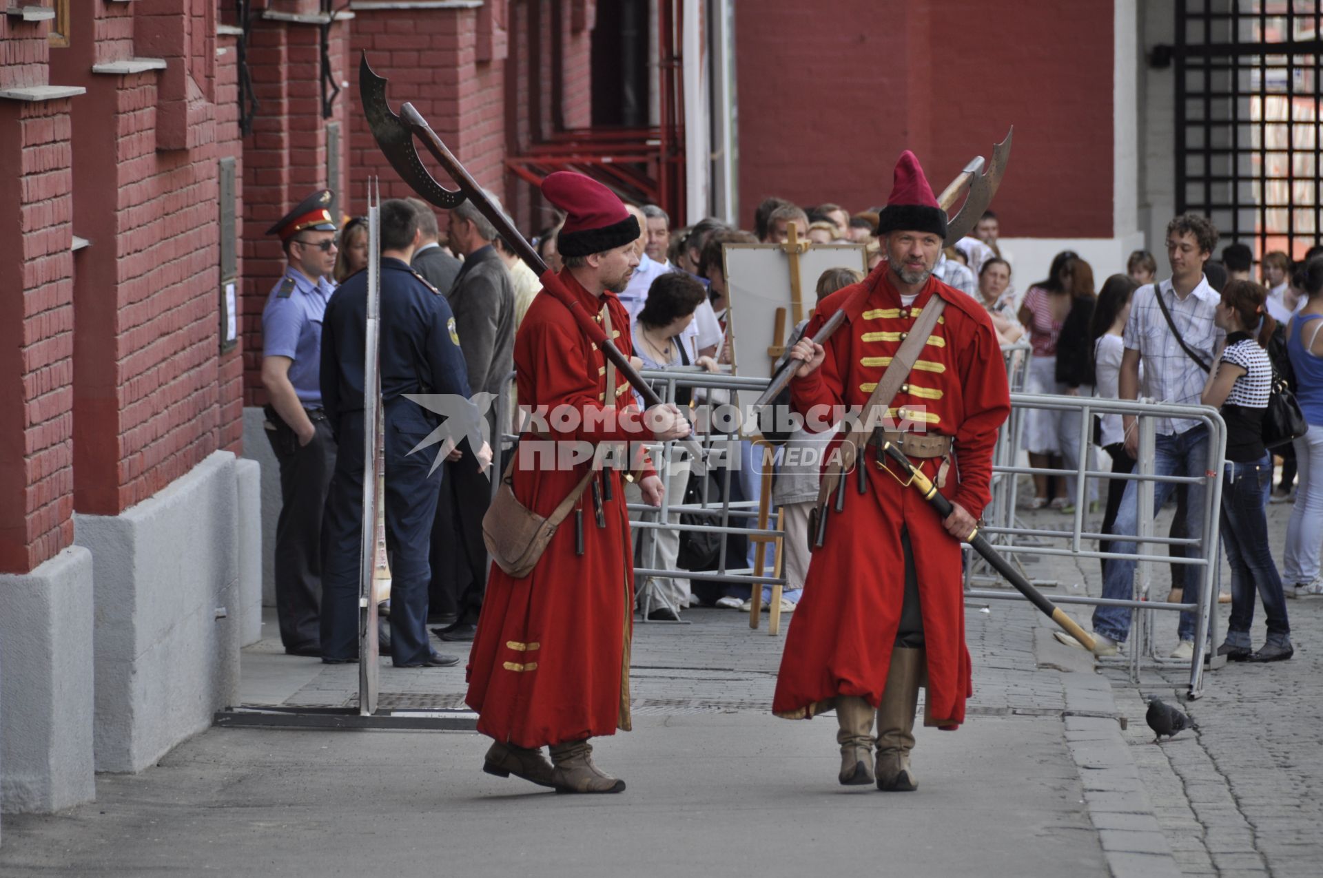
{"type": "Polygon", "coordinates": [[[258,514],[218,451],[118,516],[74,516],[95,579],[97,771],[142,771],[234,703],[239,521],[258,514]]]}

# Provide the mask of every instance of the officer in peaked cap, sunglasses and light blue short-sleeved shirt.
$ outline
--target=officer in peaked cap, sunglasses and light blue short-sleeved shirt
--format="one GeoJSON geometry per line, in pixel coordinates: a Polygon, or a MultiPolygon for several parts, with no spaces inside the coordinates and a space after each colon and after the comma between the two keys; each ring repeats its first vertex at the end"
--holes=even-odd
{"type": "Polygon", "coordinates": [[[335,440],[321,407],[321,316],[335,284],[329,189],[314,192],[266,233],[280,235],[284,275],[262,311],[266,438],[280,467],[275,608],[284,652],[320,656],[321,508],[335,440]]]}

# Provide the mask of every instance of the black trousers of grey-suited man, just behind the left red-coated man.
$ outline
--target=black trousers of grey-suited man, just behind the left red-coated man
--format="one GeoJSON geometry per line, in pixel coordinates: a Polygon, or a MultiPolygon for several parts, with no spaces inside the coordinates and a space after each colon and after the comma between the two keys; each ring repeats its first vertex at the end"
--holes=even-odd
{"type": "MultiPolygon", "coordinates": [[[[431,528],[431,610],[454,612],[458,621],[478,624],[487,594],[487,545],[483,516],[491,505],[491,481],[478,471],[478,458],[467,442],[463,456],[442,464],[437,518],[431,528]]],[[[394,602],[392,602],[392,611],[394,602]]]]}

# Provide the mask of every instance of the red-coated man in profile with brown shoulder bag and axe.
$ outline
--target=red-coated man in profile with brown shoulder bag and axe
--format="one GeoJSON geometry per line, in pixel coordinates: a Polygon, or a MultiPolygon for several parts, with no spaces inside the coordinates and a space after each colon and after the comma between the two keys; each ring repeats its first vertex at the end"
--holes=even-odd
{"type": "MultiPolygon", "coordinates": [[[[542,194],[568,214],[557,242],[565,260],[561,283],[630,354],[630,316],[615,294],[639,264],[638,221],[610,189],[583,175],[553,173],[542,194]]],[[[675,406],[638,411],[630,383],[553,295],[536,296],[520,324],[515,372],[520,405],[534,418],[516,454],[513,492],[541,516],[574,491],[598,446],[689,434],[675,406]]],[[[646,459],[636,465],[644,500],[660,505],[662,480],[646,459]]],[[[527,577],[491,569],[467,696],[479,714],[478,730],[496,739],[483,766],[488,774],[516,775],[557,792],[624,789],[623,780],[593,764],[587,739],[630,729],[630,477],[602,467],[527,577]]]]}

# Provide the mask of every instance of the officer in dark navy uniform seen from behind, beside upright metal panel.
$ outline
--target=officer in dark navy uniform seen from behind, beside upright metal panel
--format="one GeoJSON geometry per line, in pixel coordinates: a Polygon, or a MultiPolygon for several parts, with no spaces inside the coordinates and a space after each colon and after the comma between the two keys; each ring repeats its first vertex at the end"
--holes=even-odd
{"type": "MultiPolygon", "coordinates": [[[[385,201],[380,373],[390,645],[397,668],[445,668],[459,658],[433,652],[426,628],[429,537],[441,488],[441,468],[433,472],[433,463],[439,443],[413,452],[433,434],[439,418],[404,394],[452,394],[467,399],[470,393],[446,298],[409,267],[419,239],[414,208],[402,200],[385,201]]],[[[340,448],[327,497],[323,546],[321,660],[331,664],[356,661],[359,652],[366,303],[368,272],[360,271],[336,291],[325,312],[321,339],[321,398],[340,448]]],[[[486,443],[479,455],[491,460],[486,443]]]]}

